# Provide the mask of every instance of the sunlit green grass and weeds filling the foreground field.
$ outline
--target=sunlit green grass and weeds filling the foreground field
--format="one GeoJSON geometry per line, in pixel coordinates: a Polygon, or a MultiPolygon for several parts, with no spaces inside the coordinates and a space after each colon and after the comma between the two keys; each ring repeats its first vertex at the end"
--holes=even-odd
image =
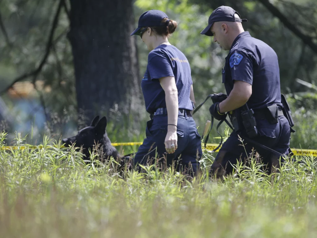
{"type": "Polygon", "coordinates": [[[250,158],[215,180],[204,152],[203,175],[188,180],[155,166],[120,174],[114,161],[85,165],[74,149],[43,141],[23,149],[18,135],[19,149],[0,151],[0,237],[317,236],[313,157],[270,176],[250,158]]]}

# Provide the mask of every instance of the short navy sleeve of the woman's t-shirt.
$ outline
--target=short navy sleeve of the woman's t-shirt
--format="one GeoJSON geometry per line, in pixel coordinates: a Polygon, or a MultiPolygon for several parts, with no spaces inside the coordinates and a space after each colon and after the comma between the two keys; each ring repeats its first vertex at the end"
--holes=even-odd
{"type": "Polygon", "coordinates": [[[169,60],[164,56],[154,56],[148,63],[147,69],[151,76],[151,81],[162,77],[173,76],[173,69],[169,60]]]}

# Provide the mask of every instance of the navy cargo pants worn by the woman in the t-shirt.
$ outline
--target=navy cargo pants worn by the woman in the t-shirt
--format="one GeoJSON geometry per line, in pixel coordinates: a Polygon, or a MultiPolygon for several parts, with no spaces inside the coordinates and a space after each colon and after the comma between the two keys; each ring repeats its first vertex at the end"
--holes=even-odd
{"type": "Polygon", "coordinates": [[[155,159],[159,159],[159,162],[166,166],[175,163],[176,169],[185,170],[187,173],[190,171],[191,175],[192,172],[197,175],[202,148],[201,137],[197,132],[194,119],[186,113],[184,116],[178,115],[177,149],[173,154],[168,154],[165,149],[167,124],[165,114],[153,116],[152,120],[146,123],[146,138],[134,156],[134,165],[153,164],[155,159]]]}

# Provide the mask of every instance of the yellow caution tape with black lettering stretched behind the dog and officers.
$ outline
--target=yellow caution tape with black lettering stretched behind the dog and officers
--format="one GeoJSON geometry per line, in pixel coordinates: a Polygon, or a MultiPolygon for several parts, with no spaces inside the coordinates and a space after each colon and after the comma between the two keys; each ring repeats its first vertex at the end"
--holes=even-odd
{"type": "MultiPolygon", "coordinates": [[[[113,146],[134,146],[134,145],[142,145],[143,142],[122,142],[122,143],[111,143],[113,146]]],[[[211,151],[213,149],[216,149],[218,144],[207,144],[206,149],[204,149],[204,145],[202,144],[202,148],[207,151],[211,151]]],[[[51,146],[55,147],[56,146],[51,146]]],[[[34,145],[23,145],[23,146],[3,146],[1,147],[1,150],[7,149],[7,150],[16,150],[16,149],[42,149],[43,146],[34,146],[34,145]]],[[[61,146],[60,148],[65,148],[64,146],[61,146]]],[[[317,150],[316,149],[294,149],[291,148],[294,155],[313,155],[317,157],[317,150]]],[[[219,149],[216,150],[218,152],[219,149]]]]}

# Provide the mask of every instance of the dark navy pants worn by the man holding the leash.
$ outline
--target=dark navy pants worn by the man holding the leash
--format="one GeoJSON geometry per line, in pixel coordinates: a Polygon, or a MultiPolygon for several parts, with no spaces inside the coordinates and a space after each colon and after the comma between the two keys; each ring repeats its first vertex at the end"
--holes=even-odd
{"type": "MultiPolygon", "coordinates": [[[[290,152],[289,141],[290,141],[290,126],[285,116],[279,116],[279,122],[276,124],[270,124],[267,120],[256,120],[258,136],[252,138],[270,149],[288,155],[290,152]]],[[[243,135],[247,137],[246,135],[243,135]]],[[[233,166],[238,161],[245,162],[246,159],[252,153],[258,152],[262,158],[263,164],[267,165],[268,173],[271,172],[272,165],[275,168],[279,165],[279,156],[272,152],[251,144],[250,142],[240,142],[238,134],[232,132],[228,139],[223,143],[223,146],[219,150],[215,161],[211,165],[211,176],[215,173],[217,177],[221,177],[226,174],[230,174],[233,171],[233,166]]],[[[281,157],[281,163],[284,162],[281,157]]]]}

